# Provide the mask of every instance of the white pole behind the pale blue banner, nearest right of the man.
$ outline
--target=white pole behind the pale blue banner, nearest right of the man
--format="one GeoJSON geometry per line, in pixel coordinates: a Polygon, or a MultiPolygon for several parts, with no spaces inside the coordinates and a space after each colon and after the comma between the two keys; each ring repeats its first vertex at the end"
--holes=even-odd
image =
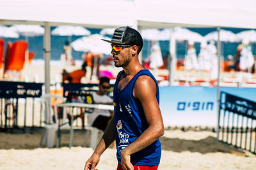
{"type": "Polygon", "coordinates": [[[170,46],[169,46],[170,61],[169,61],[168,69],[169,69],[169,85],[173,85],[177,59],[176,59],[176,41],[175,41],[175,37],[173,36],[173,27],[171,27],[170,29],[171,29],[170,46]]]}

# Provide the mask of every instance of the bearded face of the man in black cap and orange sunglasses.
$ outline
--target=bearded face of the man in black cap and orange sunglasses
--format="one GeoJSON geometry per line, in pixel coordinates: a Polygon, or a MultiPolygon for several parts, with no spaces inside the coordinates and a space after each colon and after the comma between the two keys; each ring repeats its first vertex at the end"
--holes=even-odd
{"type": "Polygon", "coordinates": [[[130,47],[122,48],[122,50],[117,52],[113,48],[111,50],[111,54],[113,55],[113,60],[116,67],[126,67],[128,66],[129,62],[131,62],[130,47]]]}

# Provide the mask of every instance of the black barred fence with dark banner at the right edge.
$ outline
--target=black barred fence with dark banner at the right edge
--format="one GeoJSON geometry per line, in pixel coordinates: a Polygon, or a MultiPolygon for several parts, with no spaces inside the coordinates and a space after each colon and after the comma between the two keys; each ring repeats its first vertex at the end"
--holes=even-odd
{"type": "Polygon", "coordinates": [[[221,92],[218,140],[256,154],[256,103],[221,92]]]}

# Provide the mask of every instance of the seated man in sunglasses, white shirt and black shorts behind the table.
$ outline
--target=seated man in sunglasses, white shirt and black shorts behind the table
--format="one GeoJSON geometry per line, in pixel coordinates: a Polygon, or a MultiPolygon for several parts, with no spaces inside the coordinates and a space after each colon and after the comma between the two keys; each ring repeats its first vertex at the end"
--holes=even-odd
{"type": "MultiPolygon", "coordinates": [[[[113,99],[107,96],[109,89],[109,78],[102,77],[99,82],[99,90],[93,92],[93,101],[95,104],[111,104],[113,105],[113,99]]],[[[101,131],[105,131],[109,120],[113,116],[113,113],[109,113],[108,110],[93,110],[92,113],[88,114],[88,125],[97,127],[101,131]]]]}

